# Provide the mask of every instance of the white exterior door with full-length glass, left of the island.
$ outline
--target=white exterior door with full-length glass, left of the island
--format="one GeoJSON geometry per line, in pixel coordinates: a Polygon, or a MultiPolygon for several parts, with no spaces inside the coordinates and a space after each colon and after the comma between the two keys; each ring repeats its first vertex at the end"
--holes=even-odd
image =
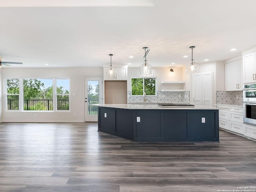
{"type": "Polygon", "coordinates": [[[98,107],[102,104],[102,77],[84,77],[85,121],[98,121],[98,107]]]}

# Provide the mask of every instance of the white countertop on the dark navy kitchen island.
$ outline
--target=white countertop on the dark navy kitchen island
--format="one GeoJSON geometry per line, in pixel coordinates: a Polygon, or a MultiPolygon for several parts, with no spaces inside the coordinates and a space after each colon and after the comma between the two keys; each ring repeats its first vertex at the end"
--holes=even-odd
{"type": "MultiPolygon", "coordinates": [[[[100,107],[110,107],[119,109],[222,109],[222,107],[196,105],[195,107],[159,107],[158,105],[139,104],[95,104],[100,107]]],[[[225,107],[223,107],[225,109],[225,107]]]]}

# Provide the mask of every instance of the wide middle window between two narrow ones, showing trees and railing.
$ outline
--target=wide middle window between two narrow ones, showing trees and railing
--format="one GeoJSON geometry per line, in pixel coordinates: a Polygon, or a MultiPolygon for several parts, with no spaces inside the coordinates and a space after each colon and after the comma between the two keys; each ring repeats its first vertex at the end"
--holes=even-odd
{"type": "Polygon", "coordinates": [[[52,79],[23,79],[24,110],[52,111],[52,79]]]}

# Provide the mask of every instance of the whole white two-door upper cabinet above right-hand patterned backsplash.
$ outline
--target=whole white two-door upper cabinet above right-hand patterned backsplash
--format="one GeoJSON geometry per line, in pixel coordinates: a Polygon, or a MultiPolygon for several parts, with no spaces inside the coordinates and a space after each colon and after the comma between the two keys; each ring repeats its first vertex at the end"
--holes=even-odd
{"type": "Polygon", "coordinates": [[[242,90],[243,79],[243,63],[242,59],[226,63],[226,91],[240,91],[242,90]]]}

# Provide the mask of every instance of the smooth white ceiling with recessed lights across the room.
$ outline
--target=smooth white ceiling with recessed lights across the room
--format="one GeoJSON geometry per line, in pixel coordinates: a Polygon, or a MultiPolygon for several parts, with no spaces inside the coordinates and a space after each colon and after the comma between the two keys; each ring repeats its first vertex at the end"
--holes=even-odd
{"type": "Polygon", "coordinates": [[[0,0],[2,61],[102,67],[112,53],[112,65],[139,67],[146,46],[149,64],[170,67],[190,62],[190,46],[196,46],[197,63],[227,60],[256,46],[256,0],[52,2],[0,0]]]}

